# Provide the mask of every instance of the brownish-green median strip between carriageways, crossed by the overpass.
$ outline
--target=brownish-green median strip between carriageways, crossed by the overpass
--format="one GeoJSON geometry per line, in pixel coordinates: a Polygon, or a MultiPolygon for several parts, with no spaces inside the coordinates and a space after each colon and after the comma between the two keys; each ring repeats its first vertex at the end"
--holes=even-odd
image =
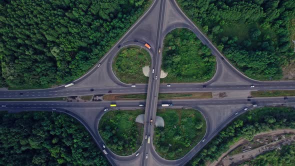
{"type": "MultiPolygon", "coordinates": [[[[159,93],[159,99],[212,98],[212,92],[159,93]]],[[[146,99],[146,94],[106,94],[103,100],[146,99]]]]}

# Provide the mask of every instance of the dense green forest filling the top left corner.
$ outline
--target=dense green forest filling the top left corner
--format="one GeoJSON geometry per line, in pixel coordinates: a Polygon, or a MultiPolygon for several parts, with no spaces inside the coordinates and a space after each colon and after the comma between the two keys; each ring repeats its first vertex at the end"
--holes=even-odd
{"type": "Polygon", "coordinates": [[[42,88],[93,66],[151,0],[1,0],[0,86],[42,88]]]}

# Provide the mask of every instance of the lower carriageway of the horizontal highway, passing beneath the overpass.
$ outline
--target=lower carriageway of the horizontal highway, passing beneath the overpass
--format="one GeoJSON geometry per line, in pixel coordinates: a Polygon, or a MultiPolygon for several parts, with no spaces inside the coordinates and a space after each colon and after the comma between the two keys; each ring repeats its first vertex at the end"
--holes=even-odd
{"type": "MultiPolygon", "coordinates": [[[[270,103],[293,103],[295,97],[259,97],[248,99],[175,99],[158,100],[156,107],[161,108],[162,103],[172,103],[172,107],[199,106],[199,105],[230,105],[230,104],[270,104],[270,103]]],[[[116,103],[117,108],[142,108],[140,103],[146,104],[145,100],[120,100],[120,101],[97,101],[97,102],[66,102],[66,101],[0,101],[0,109],[9,108],[83,108],[83,107],[109,107],[111,103],[116,103]],[[1,105],[5,105],[1,106],[1,105]]]]}

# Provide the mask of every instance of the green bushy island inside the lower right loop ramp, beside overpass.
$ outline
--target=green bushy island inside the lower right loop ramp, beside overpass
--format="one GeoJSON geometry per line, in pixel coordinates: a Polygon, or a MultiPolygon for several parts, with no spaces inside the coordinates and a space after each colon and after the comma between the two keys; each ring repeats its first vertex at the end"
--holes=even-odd
{"type": "Polygon", "coordinates": [[[184,156],[205,134],[205,119],[195,109],[160,109],[157,115],[165,126],[155,128],[153,141],[157,153],[165,159],[184,156]]]}

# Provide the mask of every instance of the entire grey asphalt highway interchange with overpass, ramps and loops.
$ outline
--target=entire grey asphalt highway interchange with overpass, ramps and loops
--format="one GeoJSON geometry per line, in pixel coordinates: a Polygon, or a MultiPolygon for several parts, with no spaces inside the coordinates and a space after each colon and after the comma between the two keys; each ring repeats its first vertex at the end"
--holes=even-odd
{"type": "MultiPolygon", "coordinates": [[[[295,89],[294,81],[257,81],[243,75],[234,68],[228,60],[218,51],[211,41],[188,19],[177,6],[175,0],[154,0],[152,5],[133,24],[129,30],[112,46],[112,48],[80,78],[67,84],[33,90],[3,90],[0,98],[40,98],[60,97],[89,94],[112,93],[147,93],[146,100],[117,100],[100,102],[63,102],[63,101],[0,101],[0,110],[10,112],[19,111],[58,111],[75,117],[80,121],[94,138],[97,146],[107,153],[105,156],[112,165],[184,165],[202,147],[210,141],[223,127],[241,113],[256,106],[292,104],[295,97],[271,97],[271,98],[222,98],[222,99],[175,99],[158,100],[159,92],[199,92],[199,91],[243,91],[243,90],[274,90],[295,89]],[[156,18],[156,19],[155,19],[156,18]],[[215,75],[204,83],[171,83],[170,86],[160,84],[162,52],[158,51],[163,46],[165,35],[179,27],[188,28],[211,49],[216,57],[215,75]],[[146,45],[148,44],[148,45],[146,45]],[[148,84],[122,83],[113,73],[111,63],[118,51],[130,45],[140,46],[149,52],[151,56],[151,69],[148,84]],[[142,145],[132,155],[119,156],[114,154],[104,144],[97,132],[98,121],[101,116],[114,109],[140,108],[144,103],[144,131],[143,135],[150,135],[150,143],[142,138],[142,145]],[[109,107],[115,104],[115,108],[109,107]],[[149,125],[150,119],[155,119],[156,110],[162,104],[170,104],[175,108],[191,107],[200,110],[206,121],[206,133],[196,146],[184,157],[177,160],[167,160],[160,157],[153,146],[154,125],[149,125]],[[109,108],[108,108],[109,107],[109,108]],[[108,108],[107,111],[104,111],[108,108]],[[218,109],[216,109],[218,108],[218,109]],[[247,108],[247,109],[245,109],[247,108]],[[236,112],[239,112],[238,114],[236,112]],[[139,155],[135,155],[139,153],[139,155]],[[148,158],[146,158],[148,154],[148,158]]],[[[166,106],[166,105],[163,105],[166,106]]]]}

